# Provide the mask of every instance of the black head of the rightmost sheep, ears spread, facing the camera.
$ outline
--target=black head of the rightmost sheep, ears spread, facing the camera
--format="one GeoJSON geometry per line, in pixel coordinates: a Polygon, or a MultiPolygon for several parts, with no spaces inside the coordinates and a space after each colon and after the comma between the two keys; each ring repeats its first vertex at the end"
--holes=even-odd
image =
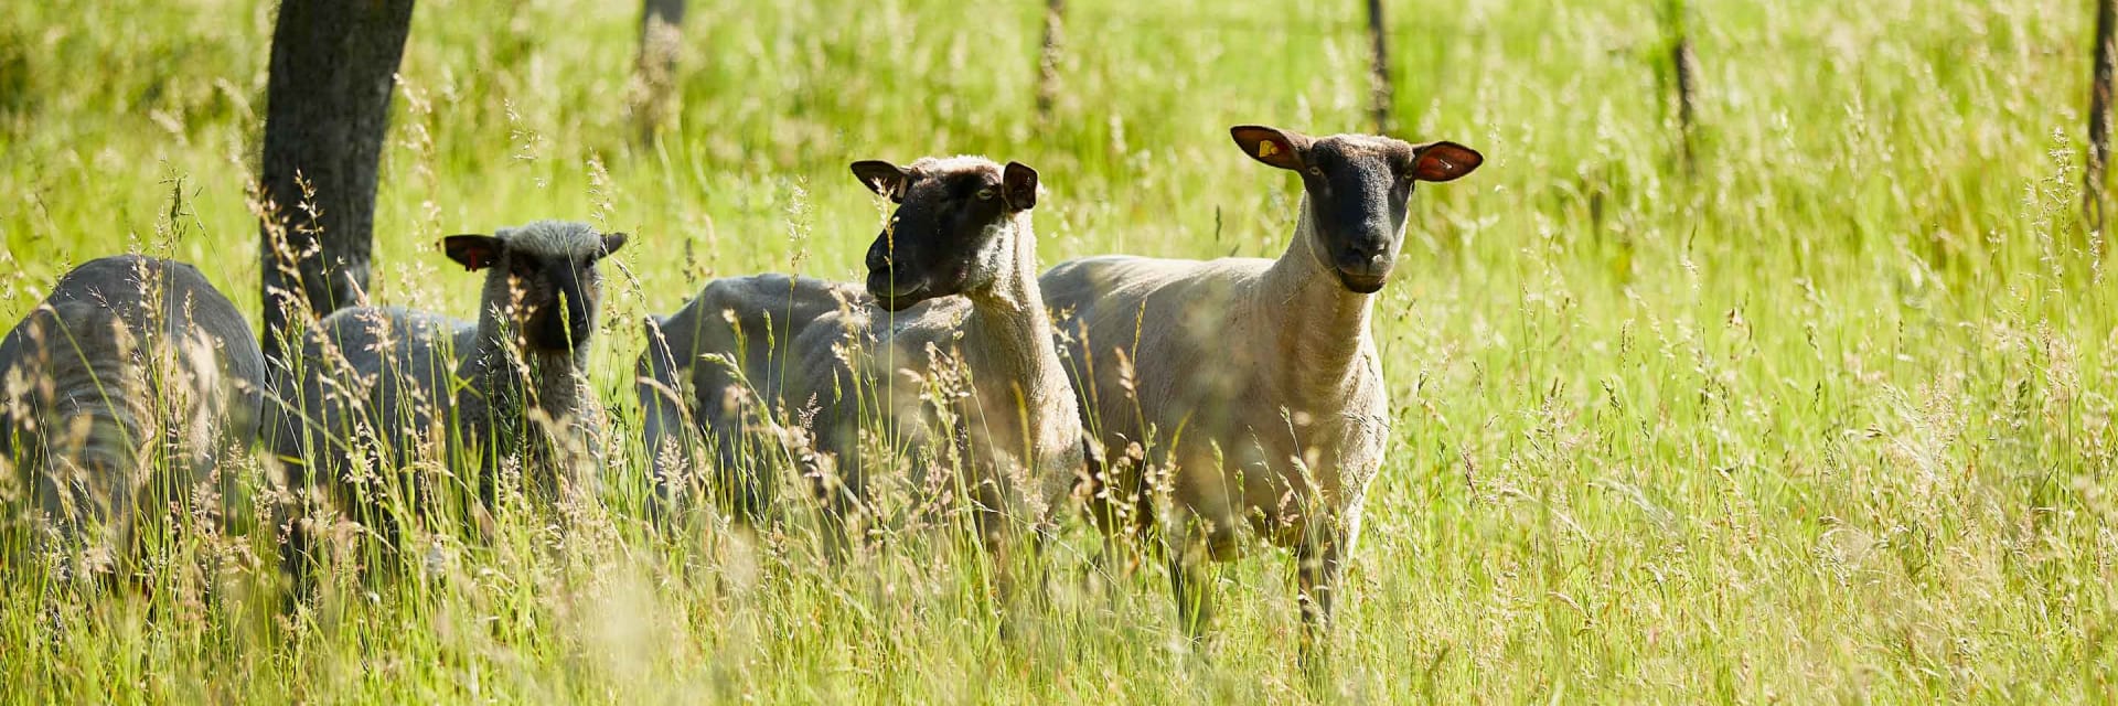
{"type": "Polygon", "coordinates": [[[1339,284],[1362,295],[1381,290],[1398,263],[1413,182],[1447,182],[1485,161],[1455,142],[1309,138],[1262,125],[1237,125],[1228,134],[1250,159],[1303,176],[1313,237],[1309,252],[1339,276],[1339,284]]]}

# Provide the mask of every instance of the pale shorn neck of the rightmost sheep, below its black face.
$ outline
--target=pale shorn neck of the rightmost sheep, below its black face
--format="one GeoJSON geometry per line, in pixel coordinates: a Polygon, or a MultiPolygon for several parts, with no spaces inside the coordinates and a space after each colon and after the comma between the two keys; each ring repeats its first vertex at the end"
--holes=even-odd
{"type": "Polygon", "coordinates": [[[1294,242],[1264,271],[1252,305],[1260,333],[1279,352],[1277,360],[1298,360],[1286,369],[1300,377],[1296,388],[1332,390],[1358,373],[1375,295],[1345,288],[1339,273],[1324,267],[1307,193],[1294,216],[1294,242]]]}

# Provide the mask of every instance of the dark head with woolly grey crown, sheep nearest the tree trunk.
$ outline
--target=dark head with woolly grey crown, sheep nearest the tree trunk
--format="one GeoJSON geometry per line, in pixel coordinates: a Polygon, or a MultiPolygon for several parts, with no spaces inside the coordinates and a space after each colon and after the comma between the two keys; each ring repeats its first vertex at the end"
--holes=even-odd
{"type": "Polygon", "coordinates": [[[589,341],[604,303],[604,257],[625,246],[625,233],[597,233],[582,223],[538,220],[493,235],[449,235],[443,252],[464,269],[489,269],[481,316],[498,316],[538,352],[570,352],[589,341]]]}

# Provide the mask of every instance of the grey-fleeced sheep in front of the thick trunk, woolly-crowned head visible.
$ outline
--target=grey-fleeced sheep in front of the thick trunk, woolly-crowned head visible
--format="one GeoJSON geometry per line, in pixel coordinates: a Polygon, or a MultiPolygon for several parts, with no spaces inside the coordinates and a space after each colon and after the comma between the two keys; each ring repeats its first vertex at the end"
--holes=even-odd
{"type": "MultiPolygon", "coordinates": [[[[597,263],[625,240],[563,220],[449,235],[443,252],[485,271],[477,324],[400,307],[326,316],[303,337],[297,363],[275,371],[286,399],[271,405],[267,433],[288,492],[324,486],[392,545],[402,522],[443,509],[432,496],[445,475],[398,473],[421,462],[468,471],[455,477],[474,483],[477,505],[457,509],[481,526],[513,469],[538,500],[593,494],[593,475],[561,454],[597,449],[604,413],[589,388],[604,299],[597,263]]],[[[316,532],[303,526],[290,528],[284,555],[297,589],[316,532]]]]}

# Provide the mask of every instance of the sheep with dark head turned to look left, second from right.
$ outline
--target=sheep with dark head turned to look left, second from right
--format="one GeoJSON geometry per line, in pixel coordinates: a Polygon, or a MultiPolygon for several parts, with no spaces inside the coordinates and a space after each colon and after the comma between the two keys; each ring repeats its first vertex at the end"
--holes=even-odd
{"type": "Polygon", "coordinates": [[[976,502],[976,532],[1006,566],[1002,519],[1042,536],[1082,473],[1080,416],[1036,278],[1038,174],[983,157],[851,170],[900,204],[868,248],[866,286],[775,273],[716,280],[648,324],[638,392],[659,496],[674,502],[688,486],[686,445],[712,435],[722,500],[754,519],[769,500],[769,462],[739,449],[758,445],[746,437],[758,426],[750,409],[762,405],[792,428],[794,462],[824,500],[837,555],[866,500],[856,458],[866,411],[896,422],[885,426],[934,464],[966,452],[959,479],[976,502]],[[928,384],[957,373],[968,394],[936,403],[928,384]]]}

